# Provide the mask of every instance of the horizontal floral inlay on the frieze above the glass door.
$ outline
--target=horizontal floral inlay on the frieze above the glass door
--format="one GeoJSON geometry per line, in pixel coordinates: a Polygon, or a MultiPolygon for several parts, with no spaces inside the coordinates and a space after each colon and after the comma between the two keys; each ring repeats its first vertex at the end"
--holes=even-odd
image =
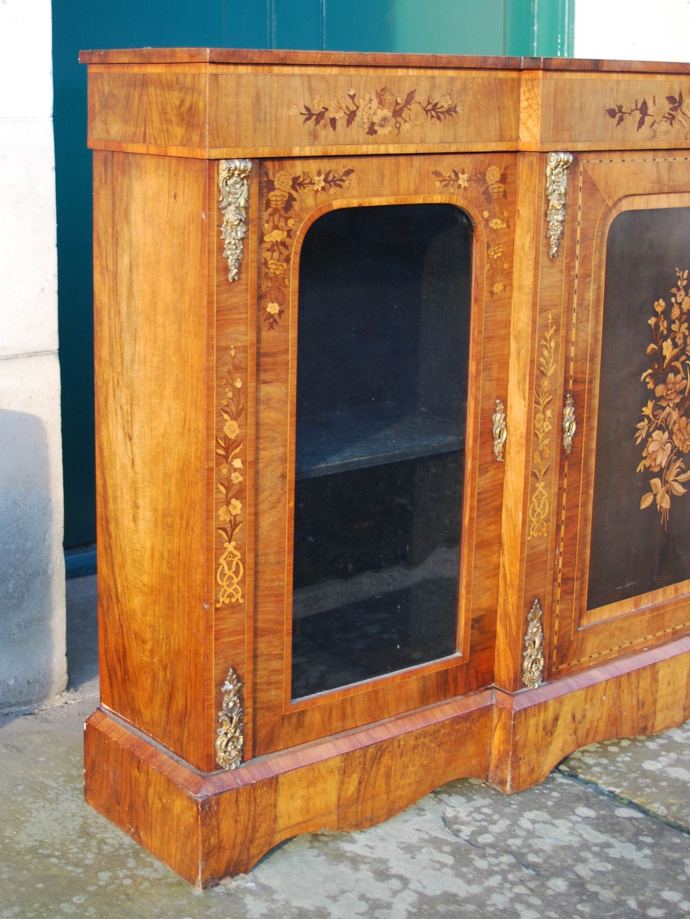
{"type": "Polygon", "coordinates": [[[393,130],[399,134],[430,121],[445,121],[462,112],[450,96],[427,98],[426,102],[416,96],[416,89],[411,89],[403,98],[382,86],[358,98],[354,89],[349,89],[344,96],[333,96],[329,102],[316,96],[310,106],[305,102],[302,108],[292,106],[290,114],[302,116],[305,124],[313,121],[315,127],[321,125],[334,131],[341,127],[343,130],[353,128],[374,137],[393,130]]]}

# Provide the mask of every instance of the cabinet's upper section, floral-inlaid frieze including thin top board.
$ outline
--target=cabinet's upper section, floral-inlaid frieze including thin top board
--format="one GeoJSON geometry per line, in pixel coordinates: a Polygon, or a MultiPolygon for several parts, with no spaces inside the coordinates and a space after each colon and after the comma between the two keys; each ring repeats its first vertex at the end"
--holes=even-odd
{"type": "Polygon", "coordinates": [[[89,145],[220,159],[690,147],[690,63],[82,51],[89,145]]]}

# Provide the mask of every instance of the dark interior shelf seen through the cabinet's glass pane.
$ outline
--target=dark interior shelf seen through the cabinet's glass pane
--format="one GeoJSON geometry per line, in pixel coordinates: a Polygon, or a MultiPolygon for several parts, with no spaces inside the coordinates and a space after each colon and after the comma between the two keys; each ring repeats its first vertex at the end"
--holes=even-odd
{"type": "Polygon", "coordinates": [[[311,479],[463,446],[456,422],[396,403],[374,403],[302,417],[297,431],[297,479],[311,479]]]}

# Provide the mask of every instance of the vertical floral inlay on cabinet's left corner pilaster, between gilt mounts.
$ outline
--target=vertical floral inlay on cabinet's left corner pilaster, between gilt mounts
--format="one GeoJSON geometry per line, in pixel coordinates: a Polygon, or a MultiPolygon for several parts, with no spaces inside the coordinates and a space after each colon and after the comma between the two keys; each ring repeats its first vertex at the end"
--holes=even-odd
{"type": "Polygon", "coordinates": [[[221,537],[221,556],[216,582],[220,588],[216,607],[227,603],[244,603],[242,578],[245,573],[236,536],[243,525],[244,487],[247,474],[244,465],[244,439],[241,424],[244,416],[243,380],[236,370],[235,346],[230,346],[230,366],[218,380],[220,412],[215,438],[217,520],[221,537]]]}

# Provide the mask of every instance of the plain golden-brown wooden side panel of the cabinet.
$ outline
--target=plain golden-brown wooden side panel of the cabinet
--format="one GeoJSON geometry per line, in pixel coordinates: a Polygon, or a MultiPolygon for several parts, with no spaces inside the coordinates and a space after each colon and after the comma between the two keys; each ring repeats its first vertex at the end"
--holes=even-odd
{"type": "Polygon", "coordinates": [[[97,153],[94,187],[101,698],[204,768],[206,164],[97,153]]]}

